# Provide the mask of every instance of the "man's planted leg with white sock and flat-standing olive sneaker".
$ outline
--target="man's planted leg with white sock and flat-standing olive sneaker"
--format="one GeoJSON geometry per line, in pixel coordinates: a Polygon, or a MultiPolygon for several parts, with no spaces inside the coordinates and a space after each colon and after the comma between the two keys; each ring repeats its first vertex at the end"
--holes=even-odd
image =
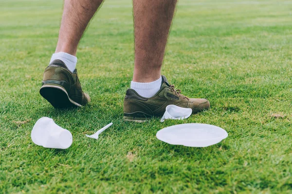
{"type": "Polygon", "coordinates": [[[177,0],[133,0],[135,67],[124,100],[124,120],[143,122],[162,116],[168,105],[210,107],[206,99],[187,98],[161,75],[167,37],[177,0]]]}

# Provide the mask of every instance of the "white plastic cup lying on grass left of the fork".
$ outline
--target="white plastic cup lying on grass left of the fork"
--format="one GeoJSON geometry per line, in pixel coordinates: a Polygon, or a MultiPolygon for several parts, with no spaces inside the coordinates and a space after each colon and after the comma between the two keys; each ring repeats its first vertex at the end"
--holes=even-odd
{"type": "Polygon", "coordinates": [[[71,132],[63,129],[48,117],[37,120],[31,137],[34,143],[46,148],[67,149],[73,142],[71,132]]]}

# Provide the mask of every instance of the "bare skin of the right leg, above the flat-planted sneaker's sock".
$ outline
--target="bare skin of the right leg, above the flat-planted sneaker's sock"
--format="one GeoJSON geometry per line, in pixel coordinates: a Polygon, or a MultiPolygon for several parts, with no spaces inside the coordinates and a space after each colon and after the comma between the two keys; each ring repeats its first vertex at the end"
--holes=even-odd
{"type": "Polygon", "coordinates": [[[165,45],[177,0],[133,0],[134,82],[160,78],[165,45]]]}

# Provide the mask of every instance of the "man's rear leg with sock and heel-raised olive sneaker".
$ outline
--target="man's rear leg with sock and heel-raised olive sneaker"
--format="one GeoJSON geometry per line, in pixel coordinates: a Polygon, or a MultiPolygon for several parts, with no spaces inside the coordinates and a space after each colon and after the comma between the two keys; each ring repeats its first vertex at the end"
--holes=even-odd
{"type": "Polygon", "coordinates": [[[65,0],[59,38],[43,76],[40,94],[54,107],[84,106],[90,101],[75,70],[78,43],[103,0],[65,0]]]}

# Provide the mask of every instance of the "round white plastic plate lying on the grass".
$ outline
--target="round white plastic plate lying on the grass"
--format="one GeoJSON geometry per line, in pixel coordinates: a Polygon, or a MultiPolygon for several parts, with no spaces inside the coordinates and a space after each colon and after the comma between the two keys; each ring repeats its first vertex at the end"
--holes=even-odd
{"type": "Polygon", "coordinates": [[[177,124],[161,129],[157,139],[172,145],[207,147],[227,138],[228,133],[215,125],[201,123],[177,124]]]}

